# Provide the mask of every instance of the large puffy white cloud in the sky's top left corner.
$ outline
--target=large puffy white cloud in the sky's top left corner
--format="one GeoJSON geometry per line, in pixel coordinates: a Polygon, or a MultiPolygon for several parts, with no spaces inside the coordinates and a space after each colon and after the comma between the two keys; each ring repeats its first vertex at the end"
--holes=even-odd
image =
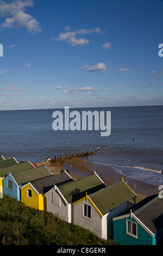
{"type": "Polygon", "coordinates": [[[0,15],[7,16],[1,24],[4,28],[22,27],[27,28],[30,33],[40,33],[41,28],[30,14],[25,13],[26,7],[32,7],[32,0],[15,0],[12,3],[0,2],[0,15]]]}

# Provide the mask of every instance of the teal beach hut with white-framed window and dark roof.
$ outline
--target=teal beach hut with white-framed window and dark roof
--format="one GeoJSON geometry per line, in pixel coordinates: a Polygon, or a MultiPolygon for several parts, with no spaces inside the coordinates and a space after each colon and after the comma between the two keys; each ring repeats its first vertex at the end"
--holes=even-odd
{"type": "Polygon", "coordinates": [[[120,245],[162,245],[163,200],[147,197],[113,218],[114,240],[120,245]]]}

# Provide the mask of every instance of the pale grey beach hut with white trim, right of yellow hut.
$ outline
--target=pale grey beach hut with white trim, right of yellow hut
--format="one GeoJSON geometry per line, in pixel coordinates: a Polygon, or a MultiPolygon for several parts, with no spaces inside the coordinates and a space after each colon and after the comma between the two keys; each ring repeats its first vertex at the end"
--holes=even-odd
{"type": "Polygon", "coordinates": [[[73,223],[73,202],[83,198],[86,191],[90,194],[103,187],[106,185],[95,172],[67,184],[54,186],[45,194],[47,212],[52,212],[62,220],[73,223]]]}

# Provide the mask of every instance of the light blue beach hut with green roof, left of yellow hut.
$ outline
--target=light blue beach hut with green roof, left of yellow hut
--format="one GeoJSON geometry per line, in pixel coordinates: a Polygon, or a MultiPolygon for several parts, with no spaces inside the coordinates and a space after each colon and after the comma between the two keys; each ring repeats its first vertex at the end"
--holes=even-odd
{"type": "Polygon", "coordinates": [[[21,200],[20,187],[30,181],[43,179],[53,175],[46,166],[22,170],[17,173],[10,173],[3,179],[3,193],[8,196],[21,200]]]}

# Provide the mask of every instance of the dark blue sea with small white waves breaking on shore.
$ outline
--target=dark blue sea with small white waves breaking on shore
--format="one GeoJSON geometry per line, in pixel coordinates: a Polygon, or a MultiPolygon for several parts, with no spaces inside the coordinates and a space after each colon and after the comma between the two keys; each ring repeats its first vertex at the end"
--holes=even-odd
{"type": "Polygon", "coordinates": [[[0,111],[0,155],[37,163],[55,155],[97,150],[85,160],[147,184],[163,185],[163,106],[69,109],[80,113],[81,124],[83,111],[103,112],[105,119],[111,112],[109,136],[101,136],[100,127],[93,126],[92,130],[53,130],[55,111],[64,117],[64,108],[0,111]]]}

